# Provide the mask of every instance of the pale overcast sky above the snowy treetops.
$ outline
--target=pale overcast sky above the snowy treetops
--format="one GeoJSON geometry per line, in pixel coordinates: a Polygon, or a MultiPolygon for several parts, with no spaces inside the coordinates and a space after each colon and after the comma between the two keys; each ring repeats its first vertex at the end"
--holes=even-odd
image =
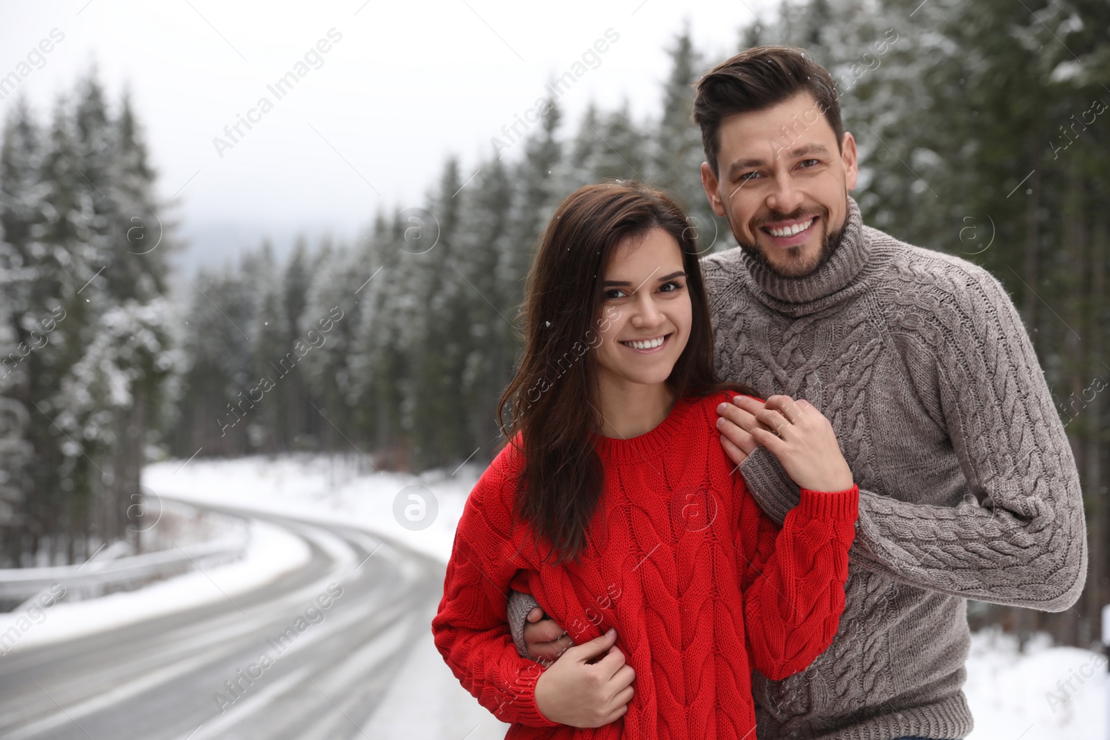
{"type": "Polygon", "coordinates": [[[178,262],[193,267],[264,235],[282,250],[297,232],[350,240],[379,207],[421,204],[448,154],[462,159],[466,176],[491,151],[491,138],[606,31],[617,40],[587,55],[591,69],[559,100],[566,120],[576,121],[591,100],[604,108],[628,100],[637,116],[654,113],[668,71],[665,49],[686,20],[698,48],[716,59],[736,51],[755,13],[770,19],[775,7],[0,0],[0,77],[52,31],[64,34],[41,61],[32,59],[0,114],[21,93],[44,120],[93,68],[113,105],[129,87],[160,196],[191,242],[178,262]],[[303,77],[279,99],[268,85],[287,72],[303,77]],[[263,97],[272,110],[258,109],[263,97]],[[251,129],[240,123],[232,140],[224,126],[249,114],[251,129]],[[218,151],[216,136],[230,145],[218,151]]]}

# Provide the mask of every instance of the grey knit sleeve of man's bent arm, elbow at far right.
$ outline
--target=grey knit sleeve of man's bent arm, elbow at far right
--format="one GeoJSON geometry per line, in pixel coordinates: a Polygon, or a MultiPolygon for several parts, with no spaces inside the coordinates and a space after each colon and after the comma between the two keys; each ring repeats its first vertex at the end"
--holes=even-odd
{"type": "MultiPolygon", "coordinates": [[[[947,274],[952,284],[926,296],[927,307],[899,310],[914,320],[909,379],[947,427],[962,500],[931,506],[861,489],[854,560],[919,588],[1062,611],[1082,591],[1088,557],[1071,446],[1006,291],[973,265],[947,274]]],[[[767,450],[740,470],[774,518],[798,500],[767,450]]]]}

